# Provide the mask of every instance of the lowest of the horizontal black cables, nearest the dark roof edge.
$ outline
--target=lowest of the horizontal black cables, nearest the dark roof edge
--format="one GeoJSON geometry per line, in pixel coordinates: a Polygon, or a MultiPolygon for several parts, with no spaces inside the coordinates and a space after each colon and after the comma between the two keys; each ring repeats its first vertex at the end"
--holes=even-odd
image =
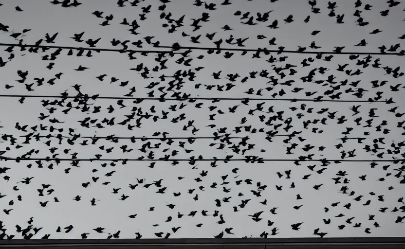
{"type": "Polygon", "coordinates": [[[258,161],[294,161],[294,162],[301,162],[301,161],[321,161],[321,162],[373,162],[373,161],[381,161],[381,162],[400,162],[405,161],[405,159],[393,159],[393,160],[341,160],[341,159],[224,159],[224,158],[211,158],[211,159],[97,159],[97,158],[86,158],[86,159],[71,159],[71,158],[7,158],[7,157],[0,157],[0,160],[11,160],[11,161],[34,161],[34,160],[44,160],[44,161],[249,161],[249,162],[258,162],[258,161]]]}

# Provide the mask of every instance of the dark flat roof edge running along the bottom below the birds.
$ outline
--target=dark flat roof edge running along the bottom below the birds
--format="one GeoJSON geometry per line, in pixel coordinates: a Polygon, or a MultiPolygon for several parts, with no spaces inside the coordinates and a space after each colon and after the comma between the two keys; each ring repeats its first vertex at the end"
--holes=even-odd
{"type": "Polygon", "coordinates": [[[1,249],[19,248],[137,249],[403,249],[405,237],[343,238],[201,238],[201,239],[30,239],[1,240],[1,249]]]}

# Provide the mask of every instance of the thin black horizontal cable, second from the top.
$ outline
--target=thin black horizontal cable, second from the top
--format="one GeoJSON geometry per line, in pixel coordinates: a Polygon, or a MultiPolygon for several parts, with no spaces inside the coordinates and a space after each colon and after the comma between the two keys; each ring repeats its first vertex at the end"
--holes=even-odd
{"type": "MultiPolygon", "coordinates": [[[[0,97],[19,97],[19,98],[65,98],[65,99],[74,99],[74,98],[89,98],[89,99],[123,99],[123,100],[175,100],[175,101],[184,101],[184,100],[252,100],[252,101],[307,101],[307,102],[364,102],[364,103],[373,103],[373,102],[385,102],[388,100],[380,101],[370,101],[370,100],[332,100],[332,99],[270,99],[270,98],[201,98],[201,97],[189,97],[189,98],[136,98],[136,97],[103,97],[97,96],[92,98],[91,96],[61,96],[61,95],[10,95],[10,94],[0,94],[0,97]]],[[[390,101],[389,104],[395,102],[390,101]]],[[[387,103],[388,104],[388,103],[387,103]]]]}

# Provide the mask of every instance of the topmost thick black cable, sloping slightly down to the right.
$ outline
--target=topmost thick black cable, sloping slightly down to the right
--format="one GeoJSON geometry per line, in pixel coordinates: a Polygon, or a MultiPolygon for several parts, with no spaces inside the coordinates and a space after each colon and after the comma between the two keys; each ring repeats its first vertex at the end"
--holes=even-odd
{"type": "Polygon", "coordinates": [[[69,47],[69,46],[52,46],[52,45],[29,45],[29,44],[14,44],[14,43],[0,43],[0,46],[13,46],[13,47],[33,47],[33,48],[56,48],[56,49],[73,49],[73,50],[91,50],[91,51],[106,51],[106,52],[119,52],[119,53],[173,53],[173,50],[187,49],[187,50],[213,50],[213,51],[241,51],[241,52],[269,52],[269,53],[310,53],[310,54],[373,54],[373,55],[404,55],[402,53],[377,53],[377,52],[334,52],[334,51],[294,51],[294,50],[268,50],[268,49],[237,49],[237,48],[207,48],[207,47],[184,47],[184,46],[154,46],[155,48],[169,48],[171,51],[158,51],[158,50],[124,50],[124,49],[99,49],[99,48],[82,48],[82,47],[69,47]]]}

